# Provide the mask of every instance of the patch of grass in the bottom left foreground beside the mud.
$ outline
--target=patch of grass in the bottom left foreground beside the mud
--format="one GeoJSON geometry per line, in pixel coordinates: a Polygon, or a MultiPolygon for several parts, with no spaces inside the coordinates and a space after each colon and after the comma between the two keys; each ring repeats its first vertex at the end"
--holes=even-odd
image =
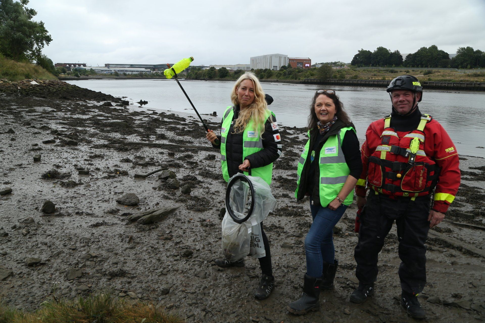
{"type": "Polygon", "coordinates": [[[176,315],[166,314],[153,305],[131,305],[111,294],[79,297],[74,301],[56,300],[41,304],[35,312],[24,312],[0,304],[0,323],[179,323],[176,315]]]}

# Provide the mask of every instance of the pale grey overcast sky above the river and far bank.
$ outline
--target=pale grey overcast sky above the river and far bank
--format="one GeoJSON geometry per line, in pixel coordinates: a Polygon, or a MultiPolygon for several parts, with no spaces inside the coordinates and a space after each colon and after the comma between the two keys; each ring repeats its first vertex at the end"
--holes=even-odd
{"type": "Polygon", "coordinates": [[[31,0],[54,62],[249,63],[285,54],[350,62],[360,48],[485,51],[485,0],[31,0]]]}

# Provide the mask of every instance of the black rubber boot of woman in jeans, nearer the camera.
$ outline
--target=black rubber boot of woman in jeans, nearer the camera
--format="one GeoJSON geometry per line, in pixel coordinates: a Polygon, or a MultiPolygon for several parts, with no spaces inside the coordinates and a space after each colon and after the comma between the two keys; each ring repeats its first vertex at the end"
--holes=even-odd
{"type": "Polygon", "coordinates": [[[320,285],[322,277],[310,277],[305,274],[303,293],[299,300],[288,304],[286,309],[292,314],[306,314],[311,310],[317,310],[320,306],[318,297],[320,296],[320,285]]]}

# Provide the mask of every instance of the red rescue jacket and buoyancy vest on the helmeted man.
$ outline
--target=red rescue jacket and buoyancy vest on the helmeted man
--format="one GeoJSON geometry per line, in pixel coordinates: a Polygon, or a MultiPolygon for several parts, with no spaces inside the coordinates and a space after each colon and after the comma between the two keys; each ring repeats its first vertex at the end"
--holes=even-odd
{"type": "Polygon", "coordinates": [[[382,194],[414,199],[432,193],[436,185],[433,210],[445,213],[460,185],[458,153],[450,136],[426,114],[409,132],[396,132],[390,118],[374,121],[367,129],[357,196],[366,196],[367,184],[382,194]]]}

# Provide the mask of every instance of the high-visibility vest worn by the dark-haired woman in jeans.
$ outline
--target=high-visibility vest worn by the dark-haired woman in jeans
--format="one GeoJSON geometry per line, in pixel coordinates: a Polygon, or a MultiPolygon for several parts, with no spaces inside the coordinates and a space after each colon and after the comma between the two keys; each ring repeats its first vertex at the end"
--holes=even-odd
{"type": "MultiPolygon", "coordinates": [[[[318,156],[318,165],[320,169],[320,183],[319,196],[320,205],[326,207],[328,203],[335,199],[342,189],[347,176],[350,174],[350,169],[345,162],[345,156],[342,152],[342,140],[345,133],[349,130],[356,131],[353,127],[343,127],[335,135],[329,136],[323,144],[320,155],[318,156]]],[[[310,132],[308,131],[308,141],[301,154],[300,161],[298,162],[297,169],[297,183],[295,198],[297,197],[298,190],[300,189],[300,176],[307,161],[308,154],[310,153],[310,132]]],[[[315,156],[317,158],[317,156],[315,156]]],[[[309,167],[309,162],[307,167],[309,167]]],[[[305,189],[305,188],[303,188],[305,189]]],[[[354,200],[354,190],[345,197],[343,204],[350,205],[354,200]]]]}

